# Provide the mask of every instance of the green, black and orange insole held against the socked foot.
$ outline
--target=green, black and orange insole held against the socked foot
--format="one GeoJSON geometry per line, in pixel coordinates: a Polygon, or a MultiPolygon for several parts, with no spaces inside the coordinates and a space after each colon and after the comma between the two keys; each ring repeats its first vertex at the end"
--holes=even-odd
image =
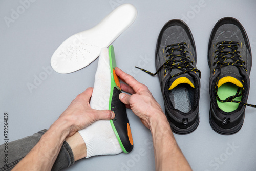
{"type": "Polygon", "coordinates": [[[115,118],[110,120],[112,129],[124,153],[130,153],[133,149],[133,138],[125,105],[119,100],[121,93],[120,83],[115,74],[116,60],[114,47],[109,47],[110,71],[111,71],[111,93],[109,110],[115,113],[115,118]]]}

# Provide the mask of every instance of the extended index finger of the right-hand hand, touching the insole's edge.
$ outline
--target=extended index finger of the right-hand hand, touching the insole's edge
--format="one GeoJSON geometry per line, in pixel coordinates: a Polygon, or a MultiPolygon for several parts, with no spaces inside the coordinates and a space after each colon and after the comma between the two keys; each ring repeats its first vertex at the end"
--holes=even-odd
{"type": "Polygon", "coordinates": [[[119,76],[126,84],[128,84],[136,93],[139,91],[148,90],[144,84],[134,79],[134,77],[131,75],[126,74],[118,67],[115,68],[115,72],[116,75],[119,76]]]}

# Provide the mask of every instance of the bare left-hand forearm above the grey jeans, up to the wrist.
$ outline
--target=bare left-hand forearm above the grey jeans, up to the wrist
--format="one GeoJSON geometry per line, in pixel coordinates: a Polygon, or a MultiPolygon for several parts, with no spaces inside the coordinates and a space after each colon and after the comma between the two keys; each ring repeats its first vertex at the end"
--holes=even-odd
{"type": "Polygon", "coordinates": [[[65,121],[54,122],[13,170],[51,170],[68,133],[69,126],[65,121]]]}

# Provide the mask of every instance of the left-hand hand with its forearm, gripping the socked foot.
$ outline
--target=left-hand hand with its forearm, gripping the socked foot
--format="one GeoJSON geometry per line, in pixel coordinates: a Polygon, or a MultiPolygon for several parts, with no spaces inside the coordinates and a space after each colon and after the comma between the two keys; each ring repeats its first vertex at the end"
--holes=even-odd
{"type": "Polygon", "coordinates": [[[74,135],[96,120],[114,119],[112,111],[98,111],[90,107],[92,92],[93,88],[88,88],[79,94],[13,170],[51,170],[67,136],[74,135]]]}

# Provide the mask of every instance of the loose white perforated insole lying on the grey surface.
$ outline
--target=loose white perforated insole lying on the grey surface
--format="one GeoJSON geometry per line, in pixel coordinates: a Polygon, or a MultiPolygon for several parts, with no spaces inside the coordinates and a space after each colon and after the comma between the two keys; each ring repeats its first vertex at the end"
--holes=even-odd
{"type": "Polygon", "coordinates": [[[113,10],[95,27],[77,33],[65,40],[53,53],[52,68],[61,74],[71,73],[88,66],[136,19],[137,10],[123,4],[113,10]]]}

